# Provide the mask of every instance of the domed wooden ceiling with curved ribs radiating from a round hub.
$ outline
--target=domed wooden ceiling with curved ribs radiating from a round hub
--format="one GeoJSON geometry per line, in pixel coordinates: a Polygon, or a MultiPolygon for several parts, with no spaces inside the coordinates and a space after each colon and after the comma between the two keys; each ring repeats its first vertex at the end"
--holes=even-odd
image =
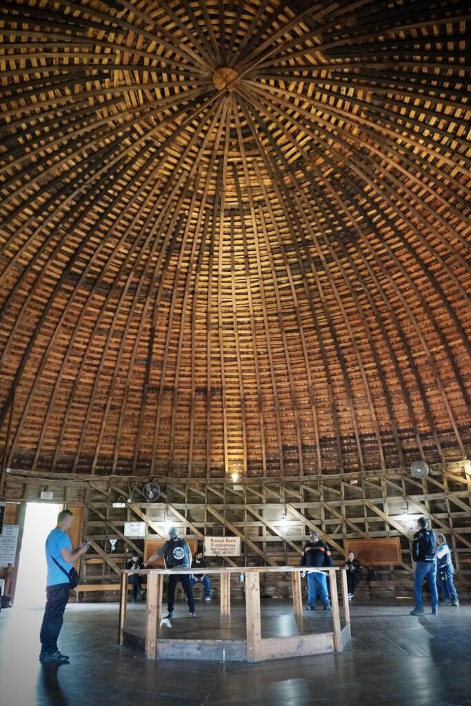
{"type": "Polygon", "coordinates": [[[467,3],[0,13],[4,467],[470,454],[467,3]]]}

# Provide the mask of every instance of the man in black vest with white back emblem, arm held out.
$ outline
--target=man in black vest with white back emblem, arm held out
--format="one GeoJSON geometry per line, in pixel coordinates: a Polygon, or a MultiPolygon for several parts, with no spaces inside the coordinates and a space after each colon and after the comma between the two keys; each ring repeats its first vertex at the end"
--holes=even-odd
{"type": "MultiPolygon", "coordinates": [[[[191,568],[191,549],[188,542],[184,539],[180,539],[178,536],[177,527],[170,527],[169,529],[169,540],[165,542],[163,546],[160,547],[158,551],[150,556],[145,563],[145,566],[155,561],[159,556],[163,556],[165,559],[165,568],[167,569],[189,569],[191,568]]],[[[173,607],[175,603],[175,589],[177,588],[177,583],[181,582],[183,590],[186,594],[186,602],[188,603],[191,618],[196,617],[195,611],[195,599],[193,597],[193,588],[191,587],[191,581],[189,574],[171,574],[169,575],[168,582],[168,597],[167,606],[169,609],[166,618],[173,618],[173,607]]]]}

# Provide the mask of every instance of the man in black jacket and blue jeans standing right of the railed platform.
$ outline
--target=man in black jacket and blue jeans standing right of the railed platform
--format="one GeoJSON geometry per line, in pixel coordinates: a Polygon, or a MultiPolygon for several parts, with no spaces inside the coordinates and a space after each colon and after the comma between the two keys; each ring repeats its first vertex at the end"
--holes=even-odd
{"type": "Polygon", "coordinates": [[[427,578],[431,597],[432,615],[439,613],[439,594],[436,590],[436,561],[435,561],[435,535],[427,529],[427,519],[419,517],[417,520],[419,531],[412,540],[412,559],[415,561],[414,597],[415,608],[410,611],[411,616],[423,614],[422,583],[427,578]]]}

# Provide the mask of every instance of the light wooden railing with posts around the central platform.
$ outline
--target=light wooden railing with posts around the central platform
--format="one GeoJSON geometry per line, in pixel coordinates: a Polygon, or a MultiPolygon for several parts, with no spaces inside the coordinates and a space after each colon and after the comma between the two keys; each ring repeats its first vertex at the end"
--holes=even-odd
{"type": "MultiPolygon", "coordinates": [[[[330,577],[330,604],[332,606],[333,630],[331,633],[316,635],[299,635],[293,637],[277,638],[261,637],[261,603],[260,603],[260,575],[262,573],[291,573],[293,614],[301,616],[302,591],[301,573],[304,567],[292,566],[263,566],[263,567],[221,567],[205,568],[205,574],[220,574],[220,612],[222,616],[229,616],[231,611],[230,575],[244,574],[245,602],[246,602],[246,659],[247,662],[258,662],[262,659],[280,659],[281,657],[296,657],[320,652],[341,652],[344,645],[350,640],[350,611],[348,604],[347,573],[345,569],[323,569],[330,577]],[[340,609],[338,590],[335,574],[341,572],[342,604],[344,610],[345,626],[340,626],[340,609]]],[[[121,571],[121,592],[119,600],[119,645],[124,644],[126,629],[126,611],[128,595],[129,573],[147,575],[147,604],[145,617],[144,652],[148,659],[157,659],[157,622],[162,618],[162,592],[164,577],[172,574],[191,574],[194,569],[142,569],[139,571],[121,571]]],[[[186,640],[185,642],[189,642],[186,640]]],[[[198,644],[201,645],[201,640],[198,644]]]]}

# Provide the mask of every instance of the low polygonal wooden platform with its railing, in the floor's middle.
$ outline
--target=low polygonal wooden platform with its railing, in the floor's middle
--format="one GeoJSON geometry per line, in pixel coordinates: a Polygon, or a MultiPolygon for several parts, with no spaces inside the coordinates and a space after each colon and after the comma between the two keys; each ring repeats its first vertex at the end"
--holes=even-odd
{"type": "Polygon", "coordinates": [[[220,602],[197,602],[197,617],[190,618],[185,601],[176,604],[174,618],[163,618],[162,590],[165,575],[191,570],[142,570],[147,574],[145,611],[129,609],[128,573],[121,575],[119,644],[132,645],[148,659],[203,659],[218,662],[261,662],[268,659],[304,657],[341,652],[350,634],[350,611],[345,570],[326,569],[330,574],[331,611],[318,602],[316,611],[305,611],[301,595],[301,571],[296,567],[251,567],[208,569],[220,573],[220,602]],[[280,605],[260,595],[260,574],[279,571],[292,574],[292,603],[280,605]],[[340,572],[340,611],[336,573],[340,572]],[[231,573],[244,573],[245,600],[230,597],[231,573]],[[201,607],[200,607],[201,606],[201,607]]]}

